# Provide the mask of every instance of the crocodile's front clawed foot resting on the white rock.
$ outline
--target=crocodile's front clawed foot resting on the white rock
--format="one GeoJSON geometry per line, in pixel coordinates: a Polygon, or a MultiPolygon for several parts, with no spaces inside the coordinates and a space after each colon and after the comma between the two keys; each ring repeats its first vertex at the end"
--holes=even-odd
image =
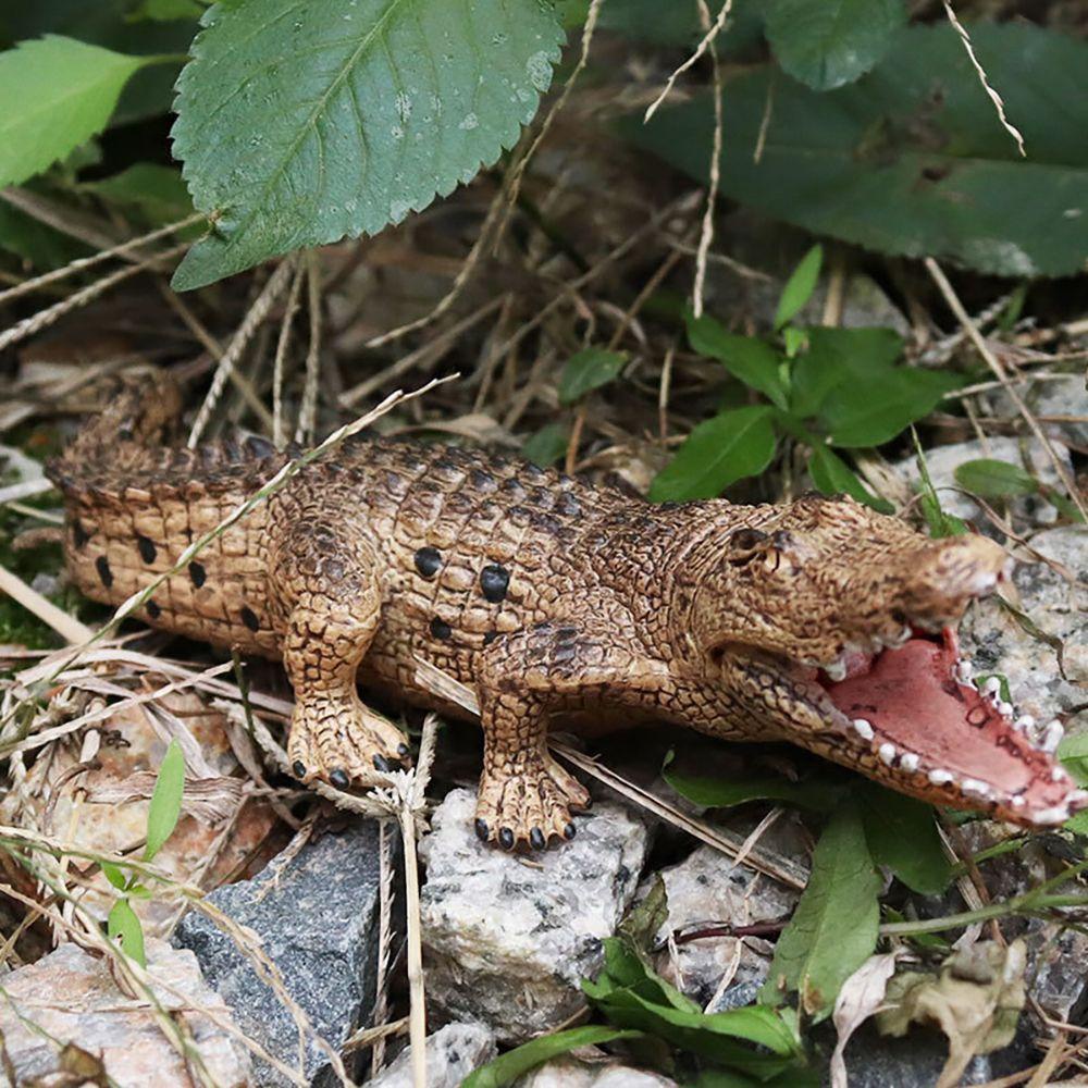
{"type": "Polygon", "coordinates": [[[573,839],[570,809],[590,807],[584,787],[549,757],[521,771],[484,770],[477,801],[477,834],[504,850],[545,850],[553,838],[573,839]]]}

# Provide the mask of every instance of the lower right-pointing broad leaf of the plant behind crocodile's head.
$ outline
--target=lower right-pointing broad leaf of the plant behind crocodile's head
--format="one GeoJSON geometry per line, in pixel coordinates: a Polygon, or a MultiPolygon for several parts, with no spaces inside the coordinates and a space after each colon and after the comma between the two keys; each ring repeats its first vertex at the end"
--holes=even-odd
{"type": "Polygon", "coordinates": [[[836,446],[879,446],[928,416],[959,384],[956,374],[944,371],[907,367],[874,371],[865,380],[842,382],[831,390],[820,423],[836,446]]]}

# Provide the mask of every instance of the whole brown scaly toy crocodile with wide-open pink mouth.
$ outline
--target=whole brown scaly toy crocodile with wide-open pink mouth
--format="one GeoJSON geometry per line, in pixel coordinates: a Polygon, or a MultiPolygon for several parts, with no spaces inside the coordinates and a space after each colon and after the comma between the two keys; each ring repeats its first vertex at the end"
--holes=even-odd
{"type": "MultiPolygon", "coordinates": [[[[71,577],[114,605],[298,454],[158,446],[176,385],[116,382],[49,466],[71,577]]],[[[956,646],[1007,565],[982,536],[930,540],[850,498],[654,505],[472,449],[353,440],[172,574],[143,618],[283,660],[304,782],[366,786],[408,755],[357,673],[446,713],[418,659],[469,684],[477,832],[508,850],[570,839],[589,804],[548,754],[554,717],[790,741],[915,798],[1056,825],[1088,803],[1053,755],[1061,725],[1017,719],[956,646]]]]}

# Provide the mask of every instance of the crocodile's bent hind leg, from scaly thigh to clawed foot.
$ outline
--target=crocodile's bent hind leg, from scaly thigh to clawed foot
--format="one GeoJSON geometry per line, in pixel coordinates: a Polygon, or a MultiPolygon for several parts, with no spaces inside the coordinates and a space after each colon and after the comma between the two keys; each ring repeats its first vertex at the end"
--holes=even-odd
{"type": "Polygon", "coordinates": [[[408,754],[404,734],[362,705],[356,671],[378,630],[373,551],[349,532],[299,520],[270,557],[283,622],[283,664],[295,689],[287,759],[301,781],[372,784],[408,754]]]}

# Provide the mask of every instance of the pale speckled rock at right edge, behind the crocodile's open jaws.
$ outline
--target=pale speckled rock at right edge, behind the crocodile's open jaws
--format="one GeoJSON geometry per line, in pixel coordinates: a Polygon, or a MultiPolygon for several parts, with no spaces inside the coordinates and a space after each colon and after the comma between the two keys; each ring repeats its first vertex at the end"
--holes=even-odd
{"type": "MultiPolygon", "coordinates": [[[[1033,639],[992,601],[974,605],[960,626],[964,654],[976,672],[1003,672],[1019,714],[1049,721],[1085,702],[1088,682],[1088,529],[1063,526],[1031,537],[1031,546],[1063,564],[1076,579],[1071,585],[1043,562],[1021,562],[1013,572],[1021,607],[1048,634],[1065,644],[1065,673],[1054,651],[1033,639]]],[[[1084,715],[1080,716],[1084,718],[1084,715]]],[[[1066,722],[1076,729],[1073,721],[1066,722]]]]}

